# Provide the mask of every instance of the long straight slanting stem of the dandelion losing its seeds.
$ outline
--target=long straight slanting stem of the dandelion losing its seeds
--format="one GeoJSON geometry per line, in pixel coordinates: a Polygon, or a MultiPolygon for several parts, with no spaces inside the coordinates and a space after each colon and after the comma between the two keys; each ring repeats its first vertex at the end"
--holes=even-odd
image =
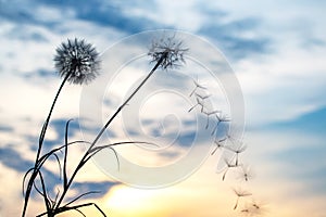
{"type": "Polygon", "coordinates": [[[96,137],[96,139],[93,140],[93,142],[91,143],[91,145],[88,148],[87,152],[84,154],[83,158],[80,159],[79,164],[77,165],[76,169],[74,170],[74,173],[71,176],[71,179],[68,180],[67,184],[64,188],[64,191],[62,192],[55,209],[60,208],[60,205],[63,201],[63,199],[65,197],[65,194],[67,193],[67,190],[70,189],[71,184],[73,183],[74,178],[76,177],[77,173],[79,171],[79,169],[86,164],[86,162],[89,159],[88,154],[90,154],[90,151],[92,150],[92,148],[96,145],[96,143],[99,141],[99,139],[101,138],[101,136],[103,135],[103,132],[105,131],[105,129],[109,127],[109,125],[113,122],[113,119],[116,117],[116,115],[118,115],[118,113],[124,108],[124,106],[126,106],[126,104],[128,104],[128,102],[133,99],[133,97],[139,91],[139,89],[146,84],[146,81],[153,75],[153,73],[158,69],[158,67],[162,64],[162,62],[166,59],[168,54],[168,51],[165,51],[161,59],[156,62],[156,64],[154,65],[154,67],[151,69],[151,72],[147,75],[147,77],[140,82],[140,85],[134,90],[134,92],[128,97],[128,99],[115,111],[115,113],[111,116],[111,118],[106,122],[106,124],[102,127],[102,129],[100,130],[100,132],[98,133],[98,136],[96,137]]]}

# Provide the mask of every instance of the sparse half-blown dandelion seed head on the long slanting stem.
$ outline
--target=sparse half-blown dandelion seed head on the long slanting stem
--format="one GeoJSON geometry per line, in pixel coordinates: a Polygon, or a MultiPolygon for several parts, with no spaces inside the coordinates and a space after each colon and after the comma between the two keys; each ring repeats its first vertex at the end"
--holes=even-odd
{"type": "Polygon", "coordinates": [[[152,41],[148,55],[152,58],[151,63],[158,63],[163,58],[160,67],[167,69],[185,64],[184,55],[188,50],[184,47],[183,41],[177,40],[175,36],[162,37],[152,41]]]}

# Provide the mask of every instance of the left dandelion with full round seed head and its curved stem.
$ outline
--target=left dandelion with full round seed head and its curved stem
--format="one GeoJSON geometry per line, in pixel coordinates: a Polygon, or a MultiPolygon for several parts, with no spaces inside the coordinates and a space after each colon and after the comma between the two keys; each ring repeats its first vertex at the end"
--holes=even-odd
{"type": "Polygon", "coordinates": [[[61,47],[57,49],[54,63],[55,69],[58,71],[59,75],[63,77],[63,80],[57,91],[57,94],[50,107],[50,112],[42,125],[42,129],[39,136],[35,165],[25,192],[25,201],[22,213],[23,217],[26,215],[33,183],[42,165],[40,161],[40,153],[48,125],[50,123],[54,105],[57,104],[58,98],[64,85],[66,84],[66,81],[77,85],[88,84],[99,74],[99,53],[96,51],[91,43],[86,43],[85,40],[78,40],[77,38],[75,38],[74,40],[68,39],[67,42],[61,43],[61,47]]]}

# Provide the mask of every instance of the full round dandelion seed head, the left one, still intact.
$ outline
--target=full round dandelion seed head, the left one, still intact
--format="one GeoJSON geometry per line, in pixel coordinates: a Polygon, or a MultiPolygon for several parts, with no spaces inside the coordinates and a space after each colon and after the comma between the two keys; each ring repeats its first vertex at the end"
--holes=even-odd
{"type": "Polygon", "coordinates": [[[54,67],[61,77],[71,84],[89,84],[99,75],[99,53],[85,40],[68,39],[57,48],[54,67]]]}

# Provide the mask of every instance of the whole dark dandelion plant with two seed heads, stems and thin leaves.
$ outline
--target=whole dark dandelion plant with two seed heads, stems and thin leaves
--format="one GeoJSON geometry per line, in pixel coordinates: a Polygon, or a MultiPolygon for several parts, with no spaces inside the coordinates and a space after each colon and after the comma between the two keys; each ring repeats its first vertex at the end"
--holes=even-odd
{"type": "MultiPolygon", "coordinates": [[[[50,108],[50,113],[48,117],[46,118],[46,122],[43,124],[43,127],[41,129],[40,136],[39,136],[39,145],[37,149],[37,155],[35,165],[28,169],[24,176],[23,179],[23,193],[24,193],[24,206],[22,210],[22,217],[26,216],[27,213],[27,205],[30,196],[30,192],[33,188],[36,190],[36,192],[43,199],[46,212],[39,214],[38,216],[57,216],[58,214],[65,213],[68,210],[75,210],[79,214],[84,215],[83,212],[79,209],[85,206],[91,206],[93,205],[101,215],[106,216],[104,212],[96,204],[96,203],[85,203],[79,205],[73,205],[76,201],[84,197],[85,195],[98,193],[96,191],[86,192],[83,193],[72,201],[63,204],[63,201],[72,186],[72,183],[75,180],[76,175],[79,173],[79,170],[85,166],[85,164],[93,157],[97,153],[99,153],[101,150],[110,149],[114,152],[117,163],[117,154],[113,146],[120,145],[120,144],[135,144],[135,143],[148,143],[148,142],[137,142],[137,141],[127,141],[127,142],[116,142],[111,144],[103,144],[95,146],[105,129],[110,126],[110,124],[115,119],[115,117],[118,115],[118,113],[128,104],[128,102],[133,99],[133,97],[140,90],[140,88],[147,82],[147,80],[153,75],[153,73],[159,68],[168,69],[173,67],[178,67],[181,64],[179,62],[185,63],[184,54],[188,51],[188,48],[184,48],[183,41],[176,40],[174,37],[167,37],[162,38],[159,41],[153,41],[152,47],[149,51],[149,55],[152,58],[151,63],[154,63],[153,68],[150,71],[150,73],[147,75],[147,77],[140,82],[140,85],[131,92],[131,94],[122,103],[122,105],[115,111],[115,113],[108,119],[105,125],[101,128],[101,130],[98,132],[97,137],[92,142],[87,141],[68,141],[68,127],[71,120],[66,123],[65,126],[65,138],[64,138],[64,145],[55,148],[51,150],[50,152],[41,155],[41,148],[42,143],[45,141],[46,132],[48,129],[48,125],[50,122],[50,117],[52,114],[52,111],[54,108],[54,105],[57,103],[57,100],[59,98],[59,94],[65,85],[66,81],[71,84],[88,84],[92,79],[97,77],[99,74],[99,54],[90,43],[86,43],[85,40],[67,40],[66,43],[62,43],[60,48],[57,49],[57,55],[54,58],[55,62],[55,68],[58,69],[59,74],[63,78],[63,81],[54,97],[53,103],[50,108]],[[67,153],[68,153],[68,146],[76,144],[76,143],[88,143],[89,148],[85,152],[84,156],[79,161],[78,165],[76,166],[75,170],[73,170],[72,175],[68,177],[67,175],[67,153]],[[61,163],[58,152],[62,151],[64,152],[63,163],[61,163]],[[58,191],[54,199],[51,199],[47,191],[47,183],[46,183],[46,177],[42,175],[42,167],[46,164],[46,162],[50,158],[54,157],[59,164],[59,167],[62,169],[60,170],[60,176],[62,175],[62,192],[58,191]],[[30,175],[30,176],[29,176],[30,175]],[[29,176],[29,177],[28,177],[29,176]],[[25,190],[25,181],[27,181],[27,187],[25,190]],[[40,183],[40,187],[38,187],[37,182],[40,183]]],[[[150,143],[148,143],[150,144],[150,143]]],[[[155,144],[154,144],[155,145],[155,144]]]]}

